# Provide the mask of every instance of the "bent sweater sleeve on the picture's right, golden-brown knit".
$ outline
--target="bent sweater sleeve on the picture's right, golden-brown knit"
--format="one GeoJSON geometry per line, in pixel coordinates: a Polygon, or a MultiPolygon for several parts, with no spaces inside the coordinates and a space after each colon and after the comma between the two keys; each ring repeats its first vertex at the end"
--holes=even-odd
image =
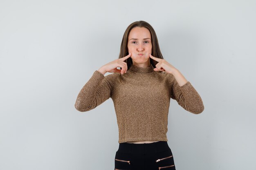
{"type": "Polygon", "coordinates": [[[180,86],[174,75],[169,74],[169,76],[171,77],[171,84],[173,84],[171,89],[171,98],[175,99],[180,106],[191,113],[202,113],[204,110],[204,104],[192,84],[187,82],[183,86],[180,86]]]}

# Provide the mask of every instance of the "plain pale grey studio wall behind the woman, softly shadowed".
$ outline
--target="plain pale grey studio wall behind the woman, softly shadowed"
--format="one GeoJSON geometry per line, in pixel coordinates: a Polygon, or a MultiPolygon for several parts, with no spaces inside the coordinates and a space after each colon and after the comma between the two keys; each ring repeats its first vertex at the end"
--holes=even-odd
{"type": "Polygon", "coordinates": [[[83,113],[74,104],[137,20],[204,102],[194,115],[171,100],[176,170],[255,170],[255,9],[254,0],[0,0],[0,170],[114,169],[112,99],[83,113]]]}

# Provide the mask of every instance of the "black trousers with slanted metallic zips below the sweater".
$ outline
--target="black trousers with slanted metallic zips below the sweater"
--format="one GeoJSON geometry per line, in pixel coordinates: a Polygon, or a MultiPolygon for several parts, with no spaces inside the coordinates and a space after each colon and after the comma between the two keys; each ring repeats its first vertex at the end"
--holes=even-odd
{"type": "Polygon", "coordinates": [[[167,141],[120,143],[115,155],[115,170],[175,170],[175,165],[167,141]]]}

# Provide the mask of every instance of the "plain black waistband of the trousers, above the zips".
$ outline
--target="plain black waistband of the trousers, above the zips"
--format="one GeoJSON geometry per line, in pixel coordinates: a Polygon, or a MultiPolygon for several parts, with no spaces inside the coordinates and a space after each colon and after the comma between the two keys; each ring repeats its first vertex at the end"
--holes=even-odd
{"type": "Polygon", "coordinates": [[[122,153],[136,153],[136,154],[148,154],[157,153],[170,149],[167,141],[157,141],[146,144],[130,144],[130,143],[119,143],[117,152],[122,153]]]}

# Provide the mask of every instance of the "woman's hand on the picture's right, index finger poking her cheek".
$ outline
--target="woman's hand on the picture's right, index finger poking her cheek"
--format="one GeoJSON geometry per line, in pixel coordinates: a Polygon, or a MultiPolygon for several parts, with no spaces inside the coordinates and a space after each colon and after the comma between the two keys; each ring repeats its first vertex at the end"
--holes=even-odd
{"type": "Polygon", "coordinates": [[[154,71],[164,71],[166,73],[173,73],[175,70],[177,70],[177,68],[175,68],[173,65],[171,65],[164,59],[154,57],[151,54],[149,54],[149,57],[158,62],[155,65],[156,68],[154,68],[154,71]]]}

